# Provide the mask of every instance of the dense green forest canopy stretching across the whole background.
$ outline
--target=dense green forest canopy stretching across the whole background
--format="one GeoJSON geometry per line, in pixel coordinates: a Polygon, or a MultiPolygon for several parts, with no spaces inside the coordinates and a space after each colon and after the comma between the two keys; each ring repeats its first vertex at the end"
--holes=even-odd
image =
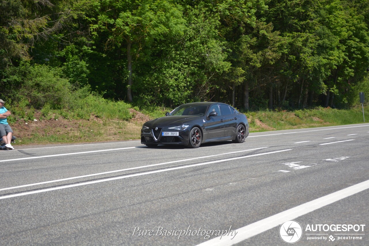
{"type": "Polygon", "coordinates": [[[211,100],[246,110],[351,107],[359,91],[369,95],[368,6],[0,1],[0,98],[40,109],[102,96],[138,106],[211,100]]]}

